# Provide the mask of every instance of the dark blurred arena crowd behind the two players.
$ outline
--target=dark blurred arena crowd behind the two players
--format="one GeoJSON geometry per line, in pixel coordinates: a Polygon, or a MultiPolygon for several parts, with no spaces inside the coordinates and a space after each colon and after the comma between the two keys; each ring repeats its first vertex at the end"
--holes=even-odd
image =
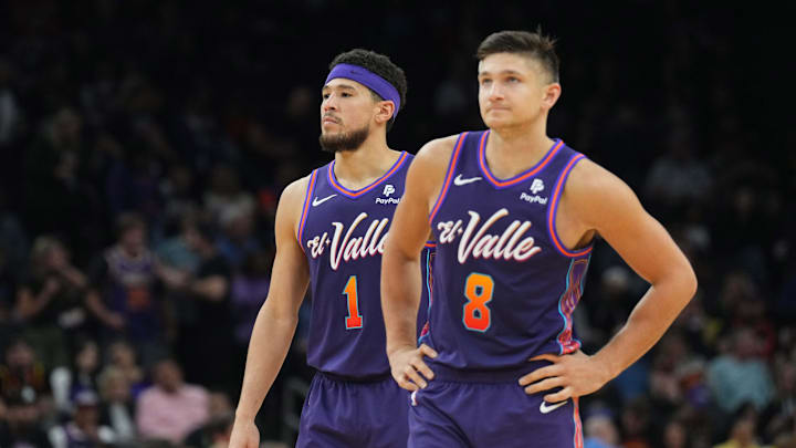
{"type": "MultiPolygon", "coordinates": [[[[329,159],[328,61],[365,46],[406,70],[388,139],[416,152],[483,126],[478,42],[540,22],[561,37],[551,135],[625,179],[700,280],[663,340],[583,399],[586,447],[796,447],[794,132],[758,96],[783,80],[760,70],[776,50],[732,12],[266,3],[0,3],[0,447],[226,446],[276,200],[329,159]]],[[[594,353],[648,284],[604,243],[589,271],[576,332],[594,353]]],[[[281,378],[312,374],[305,331],[281,378]]]]}

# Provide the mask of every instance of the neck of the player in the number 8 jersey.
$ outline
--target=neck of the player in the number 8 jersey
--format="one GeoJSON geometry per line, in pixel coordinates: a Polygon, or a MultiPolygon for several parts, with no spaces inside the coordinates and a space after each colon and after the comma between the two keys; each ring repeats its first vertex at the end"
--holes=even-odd
{"type": "Polygon", "coordinates": [[[486,164],[502,179],[536,165],[553,146],[546,134],[546,121],[533,125],[493,128],[486,143],[486,164]]]}

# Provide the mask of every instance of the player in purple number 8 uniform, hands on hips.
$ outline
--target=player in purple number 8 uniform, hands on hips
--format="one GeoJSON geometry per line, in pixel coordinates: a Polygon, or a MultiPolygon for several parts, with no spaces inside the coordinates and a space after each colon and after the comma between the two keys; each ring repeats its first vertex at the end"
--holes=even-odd
{"type": "Polygon", "coordinates": [[[489,127],[418,153],[381,269],[387,352],[412,393],[409,447],[582,447],[578,397],[643,355],[694,294],[689,261],[619,178],[546,134],[553,41],[502,31],[478,50],[489,127]],[[416,346],[418,253],[437,240],[429,332],[416,346]],[[597,236],[651,283],[598,353],[573,311],[597,236]]]}

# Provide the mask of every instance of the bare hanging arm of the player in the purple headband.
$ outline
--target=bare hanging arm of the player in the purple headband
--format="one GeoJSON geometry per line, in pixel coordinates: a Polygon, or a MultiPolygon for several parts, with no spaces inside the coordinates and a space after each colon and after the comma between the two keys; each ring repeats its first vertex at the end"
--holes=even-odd
{"type": "Polygon", "coordinates": [[[296,241],[298,215],[307,184],[308,177],[305,177],[289,185],[276,208],[276,256],[271,286],[249,343],[231,448],[259,446],[254,417],[282,367],[298,323],[298,308],[310,283],[306,258],[296,241]]]}

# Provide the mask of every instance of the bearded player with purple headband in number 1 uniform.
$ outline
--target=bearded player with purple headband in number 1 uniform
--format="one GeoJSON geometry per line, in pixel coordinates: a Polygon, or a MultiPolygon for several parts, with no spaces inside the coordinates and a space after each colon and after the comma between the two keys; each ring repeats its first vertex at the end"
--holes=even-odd
{"type": "Polygon", "coordinates": [[[320,142],[335,159],[280,199],[271,288],[251,336],[233,448],[258,447],[254,417],[285,358],[307,284],[307,363],[317,373],[296,446],[406,447],[409,399],[390,377],[379,295],[384,241],[412,159],[390,149],[386,136],[406,103],[406,77],[387,56],[359,49],[337,55],[329,70],[320,142]]]}

